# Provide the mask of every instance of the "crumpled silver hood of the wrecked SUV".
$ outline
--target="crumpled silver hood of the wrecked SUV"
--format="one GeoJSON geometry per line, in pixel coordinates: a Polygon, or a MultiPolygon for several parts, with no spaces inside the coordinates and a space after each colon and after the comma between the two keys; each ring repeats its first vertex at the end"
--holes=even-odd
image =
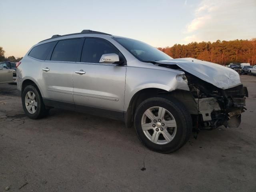
{"type": "Polygon", "coordinates": [[[221,89],[238,86],[241,83],[239,74],[228,67],[194,58],[180,58],[157,61],[159,64],[175,64],[184,71],[221,89]]]}

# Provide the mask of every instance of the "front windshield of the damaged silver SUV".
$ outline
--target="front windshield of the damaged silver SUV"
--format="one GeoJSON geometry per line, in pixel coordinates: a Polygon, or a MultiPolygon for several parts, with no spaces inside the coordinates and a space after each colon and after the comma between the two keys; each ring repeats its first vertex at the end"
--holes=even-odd
{"type": "Polygon", "coordinates": [[[164,52],[154,48],[144,42],[128,39],[128,38],[113,38],[120,43],[126,50],[142,62],[152,62],[161,60],[171,60],[172,58],[164,52]]]}

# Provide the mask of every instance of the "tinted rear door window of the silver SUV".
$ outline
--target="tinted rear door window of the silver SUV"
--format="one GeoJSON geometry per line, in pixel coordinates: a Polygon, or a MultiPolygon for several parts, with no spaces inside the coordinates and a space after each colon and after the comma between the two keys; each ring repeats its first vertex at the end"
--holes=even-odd
{"type": "Polygon", "coordinates": [[[61,40],[52,52],[52,61],[71,61],[76,62],[79,54],[81,39],[61,40]]]}

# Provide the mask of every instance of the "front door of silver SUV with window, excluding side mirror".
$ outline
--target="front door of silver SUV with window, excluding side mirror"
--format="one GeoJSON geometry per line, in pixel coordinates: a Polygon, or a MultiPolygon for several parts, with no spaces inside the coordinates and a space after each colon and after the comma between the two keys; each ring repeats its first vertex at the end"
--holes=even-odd
{"type": "MultiPolygon", "coordinates": [[[[102,54],[109,53],[119,54],[125,60],[110,42],[100,38],[85,39],[81,62],[73,68],[73,98],[77,109],[88,109],[91,114],[95,112],[92,108],[103,109],[105,112],[111,110],[116,112],[114,116],[124,111],[126,66],[100,64],[102,54]]],[[[111,117],[111,114],[107,116],[111,117]]]]}

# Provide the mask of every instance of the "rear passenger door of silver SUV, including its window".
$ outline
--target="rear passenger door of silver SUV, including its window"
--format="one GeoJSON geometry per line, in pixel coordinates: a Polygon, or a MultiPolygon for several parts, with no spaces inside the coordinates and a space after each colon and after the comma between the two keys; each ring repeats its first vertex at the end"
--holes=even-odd
{"type": "Polygon", "coordinates": [[[82,42],[82,38],[56,42],[52,54],[43,62],[41,83],[46,102],[48,100],[56,101],[55,104],[65,102],[64,106],[67,108],[74,107],[72,74],[78,56],[80,58],[82,42]]]}

